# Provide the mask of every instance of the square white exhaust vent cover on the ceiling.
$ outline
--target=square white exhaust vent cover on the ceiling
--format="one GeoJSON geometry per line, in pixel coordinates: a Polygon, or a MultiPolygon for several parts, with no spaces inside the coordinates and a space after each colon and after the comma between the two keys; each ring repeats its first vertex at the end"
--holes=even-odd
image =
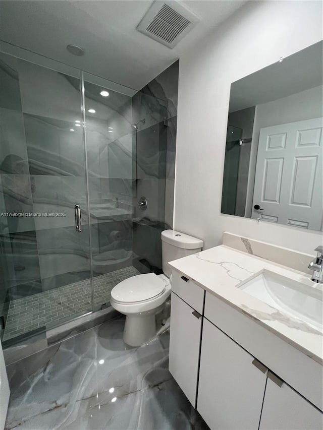
{"type": "Polygon", "coordinates": [[[140,21],[137,30],[174,48],[199,22],[199,18],[177,2],[154,2],[140,21]]]}

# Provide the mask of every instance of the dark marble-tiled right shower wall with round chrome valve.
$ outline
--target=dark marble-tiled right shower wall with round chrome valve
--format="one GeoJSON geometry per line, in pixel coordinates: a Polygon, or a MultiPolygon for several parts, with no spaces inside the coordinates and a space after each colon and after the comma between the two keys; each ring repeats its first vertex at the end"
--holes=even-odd
{"type": "Polygon", "coordinates": [[[136,142],[134,266],[161,272],[160,232],[173,227],[178,66],[174,63],[132,98],[136,142]],[[138,209],[146,197],[146,211],[138,209]]]}

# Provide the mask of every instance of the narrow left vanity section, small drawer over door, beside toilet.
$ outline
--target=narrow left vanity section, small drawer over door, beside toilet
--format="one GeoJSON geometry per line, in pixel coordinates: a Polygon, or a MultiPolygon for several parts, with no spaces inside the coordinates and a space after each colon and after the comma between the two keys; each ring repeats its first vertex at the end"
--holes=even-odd
{"type": "Polygon", "coordinates": [[[183,278],[173,273],[169,370],[195,407],[204,290],[183,278]]]}

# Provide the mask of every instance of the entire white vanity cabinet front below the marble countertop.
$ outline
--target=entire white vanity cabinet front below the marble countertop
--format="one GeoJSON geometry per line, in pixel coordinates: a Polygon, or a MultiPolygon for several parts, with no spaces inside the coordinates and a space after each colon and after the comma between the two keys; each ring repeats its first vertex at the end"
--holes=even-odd
{"type": "Polygon", "coordinates": [[[323,428],[321,364],[176,271],[169,368],[211,430],[323,428]]]}

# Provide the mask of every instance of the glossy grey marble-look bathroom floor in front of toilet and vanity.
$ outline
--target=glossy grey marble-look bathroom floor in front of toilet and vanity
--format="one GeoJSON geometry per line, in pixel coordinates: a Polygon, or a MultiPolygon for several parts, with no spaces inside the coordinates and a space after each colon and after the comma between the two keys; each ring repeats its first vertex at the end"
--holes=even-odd
{"type": "Polygon", "coordinates": [[[123,342],[124,318],[7,366],[5,429],[209,430],[168,371],[169,333],[123,342]]]}

